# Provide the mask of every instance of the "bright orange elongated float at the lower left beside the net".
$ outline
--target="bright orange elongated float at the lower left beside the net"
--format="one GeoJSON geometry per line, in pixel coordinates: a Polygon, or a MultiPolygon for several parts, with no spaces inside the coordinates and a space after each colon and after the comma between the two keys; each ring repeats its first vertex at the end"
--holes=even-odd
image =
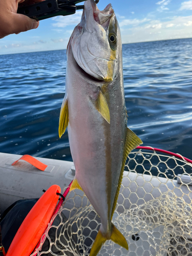
{"type": "Polygon", "coordinates": [[[39,198],[16,232],[6,256],[29,256],[32,253],[51,220],[59,198],[56,193],[60,191],[58,185],[52,185],[39,198]]]}

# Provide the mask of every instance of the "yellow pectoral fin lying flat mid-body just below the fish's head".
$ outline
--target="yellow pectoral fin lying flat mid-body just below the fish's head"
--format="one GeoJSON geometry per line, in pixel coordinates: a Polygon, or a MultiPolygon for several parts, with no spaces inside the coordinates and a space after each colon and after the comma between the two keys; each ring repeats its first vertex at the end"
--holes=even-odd
{"type": "Polygon", "coordinates": [[[106,98],[104,94],[100,91],[98,98],[96,100],[96,109],[101,114],[101,116],[110,123],[110,110],[108,106],[108,102],[106,102],[106,98]]]}

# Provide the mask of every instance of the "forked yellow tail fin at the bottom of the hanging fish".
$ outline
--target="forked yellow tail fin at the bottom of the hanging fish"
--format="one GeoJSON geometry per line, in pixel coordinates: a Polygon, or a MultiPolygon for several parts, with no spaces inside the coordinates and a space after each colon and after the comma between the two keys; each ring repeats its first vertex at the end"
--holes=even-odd
{"type": "Polygon", "coordinates": [[[96,256],[97,253],[99,252],[101,246],[104,244],[104,242],[106,240],[112,240],[114,243],[122,246],[126,250],[129,249],[125,237],[115,227],[115,225],[112,223],[112,232],[111,232],[111,236],[110,237],[108,237],[106,235],[103,235],[102,232],[99,229],[99,232],[97,233],[96,239],[95,239],[95,241],[93,243],[93,246],[91,248],[90,256],[96,256]]]}

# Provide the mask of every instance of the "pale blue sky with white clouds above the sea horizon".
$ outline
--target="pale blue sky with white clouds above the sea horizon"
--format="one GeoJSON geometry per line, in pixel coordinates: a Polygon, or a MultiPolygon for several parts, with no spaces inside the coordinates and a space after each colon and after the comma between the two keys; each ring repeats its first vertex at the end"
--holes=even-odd
{"type": "MultiPolygon", "coordinates": [[[[192,0],[100,0],[98,8],[110,2],[123,44],[192,37],[192,0]]],[[[0,55],[66,49],[81,14],[41,20],[37,29],[0,39],[0,55]]]]}

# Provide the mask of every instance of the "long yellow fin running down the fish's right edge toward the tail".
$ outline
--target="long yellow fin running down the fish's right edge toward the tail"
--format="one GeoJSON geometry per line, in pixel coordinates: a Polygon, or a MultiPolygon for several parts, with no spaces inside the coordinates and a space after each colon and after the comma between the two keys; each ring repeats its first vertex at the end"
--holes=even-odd
{"type": "Polygon", "coordinates": [[[119,191],[120,191],[120,187],[121,187],[121,182],[122,182],[123,172],[124,172],[124,166],[125,166],[127,156],[130,154],[130,152],[132,150],[134,150],[134,148],[136,148],[140,144],[143,144],[142,140],[139,139],[139,137],[132,130],[130,130],[127,127],[127,129],[126,129],[126,140],[125,140],[124,152],[123,152],[123,158],[122,158],[122,164],[121,164],[121,172],[120,172],[120,176],[119,176],[119,182],[118,182],[118,186],[117,186],[117,190],[116,190],[115,200],[114,200],[114,203],[113,203],[111,219],[113,217],[115,207],[116,207],[116,204],[117,204],[117,199],[118,199],[118,196],[119,196],[119,191]]]}

